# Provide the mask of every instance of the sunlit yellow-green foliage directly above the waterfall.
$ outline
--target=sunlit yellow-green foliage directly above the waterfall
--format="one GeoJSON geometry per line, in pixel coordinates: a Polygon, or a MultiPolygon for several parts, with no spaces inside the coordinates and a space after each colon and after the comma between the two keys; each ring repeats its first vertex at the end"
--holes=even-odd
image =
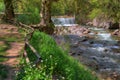
{"type": "Polygon", "coordinates": [[[52,16],[59,15],[73,15],[74,12],[74,0],[59,0],[52,3],[52,16]]]}

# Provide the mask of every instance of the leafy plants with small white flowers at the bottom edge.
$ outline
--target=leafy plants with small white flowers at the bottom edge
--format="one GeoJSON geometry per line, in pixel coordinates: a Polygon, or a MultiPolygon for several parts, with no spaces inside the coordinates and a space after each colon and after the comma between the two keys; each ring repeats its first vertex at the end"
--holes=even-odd
{"type": "Polygon", "coordinates": [[[36,68],[34,65],[26,64],[24,59],[21,59],[21,64],[24,64],[24,67],[17,73],[15,80],[50,80],[50,76],[47,76],[44,67],[36,68]]]}

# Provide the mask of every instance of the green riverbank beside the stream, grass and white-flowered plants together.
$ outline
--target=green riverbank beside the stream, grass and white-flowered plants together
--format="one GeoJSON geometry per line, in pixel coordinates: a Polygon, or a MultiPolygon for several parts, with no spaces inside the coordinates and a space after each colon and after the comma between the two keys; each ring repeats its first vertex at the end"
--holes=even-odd
{"type": "Polygon", "coordinates": [[[21,59],[22,69],[16,80],[98,80],[92,71],[61,49],[51,36],[37,30],[29,44],[37,56],[33,48],[26,47],[30,63],[21,59]]]}

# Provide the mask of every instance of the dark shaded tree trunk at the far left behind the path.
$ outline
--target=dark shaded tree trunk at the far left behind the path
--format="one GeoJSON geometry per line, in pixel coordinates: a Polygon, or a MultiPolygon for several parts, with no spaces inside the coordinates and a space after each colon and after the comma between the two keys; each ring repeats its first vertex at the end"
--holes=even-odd
{"type": "Polygon", "coordinates": [[[15,14],[14,14],[14,8],[13,8],[12,0],[4,0],[4,4],[5,4],[5,16],[4,16],[3,19],[6,22],[14,21],[15,14]]]}

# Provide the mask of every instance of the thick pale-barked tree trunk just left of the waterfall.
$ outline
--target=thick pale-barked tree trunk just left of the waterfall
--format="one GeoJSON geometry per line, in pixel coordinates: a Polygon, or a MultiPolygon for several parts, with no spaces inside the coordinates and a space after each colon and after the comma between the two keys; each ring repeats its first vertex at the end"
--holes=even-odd
{"type": "Polygon", "coordinates": [[[44,27],[41,29],[43,32],[47,34],[53,34],[54,32],[54,24],[51,20],[51,0],[42,0],[41,7],[41,25],[44,27]]]}

